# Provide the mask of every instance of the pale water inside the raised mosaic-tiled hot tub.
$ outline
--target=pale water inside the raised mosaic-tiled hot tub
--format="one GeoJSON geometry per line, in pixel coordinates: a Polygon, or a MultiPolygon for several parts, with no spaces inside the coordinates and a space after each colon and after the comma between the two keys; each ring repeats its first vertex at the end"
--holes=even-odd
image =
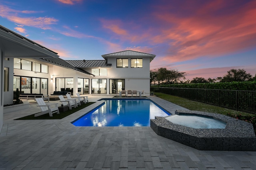
{"type": "Polygon", "coordinates": [[[211,117],[197,115],[173,115],[166,117],[172,123],[195,129],[224,129],[226,123],[211,117]]]}

